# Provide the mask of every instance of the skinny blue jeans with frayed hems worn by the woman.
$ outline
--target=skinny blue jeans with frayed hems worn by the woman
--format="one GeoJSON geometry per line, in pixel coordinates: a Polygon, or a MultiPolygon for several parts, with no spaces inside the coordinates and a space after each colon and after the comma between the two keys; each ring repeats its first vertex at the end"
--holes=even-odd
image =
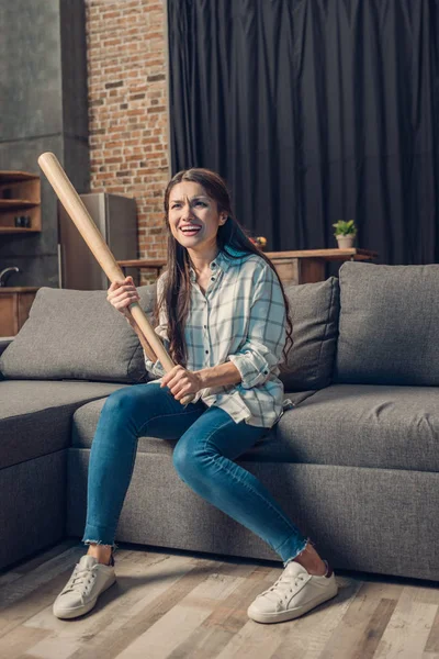
{"type": "Polygon", "coordinates": [[[305,538],[255,476],[236,465],[268,428],[236,423],[202,400],[185,407],[168,387],[134,384],[105,401],[91,445],[87,522],[82,541],[114,544],[140,436],[178,439],[173,466],[181,480],[260,538],[284,565],[306,546],[305,538]]]}

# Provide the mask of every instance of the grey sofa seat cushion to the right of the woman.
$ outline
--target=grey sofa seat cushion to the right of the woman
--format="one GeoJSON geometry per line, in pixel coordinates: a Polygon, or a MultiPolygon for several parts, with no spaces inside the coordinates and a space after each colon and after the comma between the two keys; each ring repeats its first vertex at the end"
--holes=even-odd
{"type": "Polygon", "coordinates": [[[255,460],[439,471],[435,387],[331,384],[289,410],[255,460]]]}

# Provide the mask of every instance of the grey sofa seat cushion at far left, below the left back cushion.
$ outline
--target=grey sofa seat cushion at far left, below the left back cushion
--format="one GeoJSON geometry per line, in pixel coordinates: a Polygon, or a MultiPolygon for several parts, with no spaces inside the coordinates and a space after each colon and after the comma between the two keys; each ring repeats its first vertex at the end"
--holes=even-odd
{"type": "Polygon", "coordinates": [[[126,384],[0,382],[0,469],[66,448],[78,407],[126,384]]]}

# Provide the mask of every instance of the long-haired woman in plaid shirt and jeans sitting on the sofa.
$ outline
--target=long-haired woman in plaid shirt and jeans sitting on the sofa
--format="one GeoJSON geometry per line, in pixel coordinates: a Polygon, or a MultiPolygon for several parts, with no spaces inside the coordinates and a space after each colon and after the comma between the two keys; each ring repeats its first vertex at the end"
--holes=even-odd
{"type": "Polygon", "coordinates": [[[178,439],[173,465],[200,496],[259,535],[284,571],[256,597],[248,616],[259,623],[295,618],[337,594],[323,561],[267,489],[234,460],[282,416],[278,378],[291,340],[289,303],[267,256],[234,219],[223,179],[207,169],[177,174],[165,193],[168,270],[157,282],[157,334],[175,366],[165,370],[138,332],[128,305],[139,300],[133,280],[115,281],[109,302],[139,335],[148,371],[158,379],[112,393],[90,453],[87,555],[54,603],[57,617],[90,611],[115,581],[117,521],[128,489],[138,437],[178,439]],[[185,406],[181,400],[193,394],[185,406]]]}

